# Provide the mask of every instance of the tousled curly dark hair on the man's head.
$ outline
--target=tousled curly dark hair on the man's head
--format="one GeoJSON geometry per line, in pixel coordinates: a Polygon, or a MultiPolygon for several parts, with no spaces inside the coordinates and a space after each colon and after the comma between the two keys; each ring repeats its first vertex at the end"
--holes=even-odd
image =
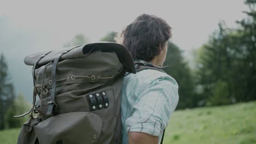
{"type": "Polygon", "coordinates": [[[159,46],[163,47],[171,38],[171,27],[155,15],[142,14],[128,25],[122,33],[123,45],[131,52],[133,59],[152,61],[159,55],[159,46]]]}

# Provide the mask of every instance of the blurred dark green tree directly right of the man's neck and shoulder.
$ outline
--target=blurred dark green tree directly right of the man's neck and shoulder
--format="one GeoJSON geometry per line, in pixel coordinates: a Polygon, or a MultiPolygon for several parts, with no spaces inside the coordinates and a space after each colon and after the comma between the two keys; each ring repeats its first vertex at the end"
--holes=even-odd
{"type": "Polygon", "coordinates": [[[173,43],[168,44],[164,69],[168,75],[171,75],[179,85],[179,103],[177,109],[196,107],[199,101],[198,95],[194,92],[195,85],[188,63],[182,57],[182,51],[173,43]]]}

